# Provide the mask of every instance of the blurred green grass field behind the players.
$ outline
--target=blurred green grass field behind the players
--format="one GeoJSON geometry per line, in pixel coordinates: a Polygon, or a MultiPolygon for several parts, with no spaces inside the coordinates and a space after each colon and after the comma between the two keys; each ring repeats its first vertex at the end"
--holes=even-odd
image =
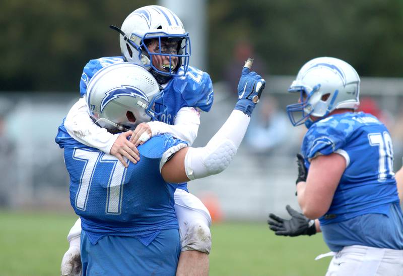
{"type": "MultiPolygon", "coordinates": [[[[0,210],[0,275],[59,275],[76,216],[0,210]]],[[[330,258],[321,235],[277,237],[265,222],[212,226],[210,275],[324,275],[330,258]]]]}

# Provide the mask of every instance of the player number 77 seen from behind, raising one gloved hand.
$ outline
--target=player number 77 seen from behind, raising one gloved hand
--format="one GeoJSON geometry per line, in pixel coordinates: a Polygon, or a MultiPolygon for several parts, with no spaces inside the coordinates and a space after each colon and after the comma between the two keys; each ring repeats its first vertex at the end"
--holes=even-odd
{"type": "MultiPolygon", "coordinates": [[[[141,160],[125,167],[59,127],[56,142],[64,148],[71,204],[81,217],[83,274],[176,273],[181,246],[171,183],[218,174],[228,166],[265,85],[249,68],[242,70],[234,111],[205,147],[157,135],[139,146],[141,160]]],[[[117,63],[99,70],[86,92],[92,120],[117,133],[154,119],[154,103],[165,91],[143,67],[117,63]]]]}

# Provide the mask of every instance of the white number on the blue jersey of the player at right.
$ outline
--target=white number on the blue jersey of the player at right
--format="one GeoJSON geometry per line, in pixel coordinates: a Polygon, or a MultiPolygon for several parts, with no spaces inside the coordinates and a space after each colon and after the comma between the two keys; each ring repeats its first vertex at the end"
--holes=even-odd
{"type": "Polygon", "coordinates": [[[368,134],[369,144],[379,147],[379,174],[378,181],[385,181],[387,175],[393,176],[392,138],[388,132],[368,134]],[[387,161],[387,162],[385,162],[387,161]]]}

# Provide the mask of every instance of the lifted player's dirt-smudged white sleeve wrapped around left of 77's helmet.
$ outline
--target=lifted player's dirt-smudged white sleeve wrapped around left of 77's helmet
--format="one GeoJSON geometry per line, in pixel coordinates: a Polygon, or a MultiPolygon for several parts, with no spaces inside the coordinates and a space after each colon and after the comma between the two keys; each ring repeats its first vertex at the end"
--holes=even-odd
{"type": "Polygon", "coordinates": [[[72,106],[64,121],[64,127],[70,136],[80,143],[98,148],[108,154],[119,136],[119,134],[109,133],[91,120],[84,97],[72,106]]]}

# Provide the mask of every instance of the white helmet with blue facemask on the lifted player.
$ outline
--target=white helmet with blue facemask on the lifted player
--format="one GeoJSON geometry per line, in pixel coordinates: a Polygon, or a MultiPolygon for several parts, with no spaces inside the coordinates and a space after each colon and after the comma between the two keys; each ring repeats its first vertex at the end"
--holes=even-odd
{"type": "MultiPolygon", "coordinates": [[[[171,10],[161,6],[146,6],[129,14],[123,21],[121,29],[110,26],[120,35],[120,49],[127,62],[135,63],[151,70],[158,76],[183,76],[189,66],[190,39],[182,22],[171,10]],[[147,42],[151,39],[159,40],[159,52],[150,52],[147,42]],[[178,42],[176,53],[164,53],[161,49],[161,39],[178,42]],[[153,65],[153,57],[156,55],[169,57],[169,65],[166,71],[161,71],[153,65]],[[175,68],[172,66],[172,58],[178,58],[175,68]],[[179,68],[183,66],[183,70],[179,68]]],[[[168,79],[169,79],[168,78],[168,79]]]]}

